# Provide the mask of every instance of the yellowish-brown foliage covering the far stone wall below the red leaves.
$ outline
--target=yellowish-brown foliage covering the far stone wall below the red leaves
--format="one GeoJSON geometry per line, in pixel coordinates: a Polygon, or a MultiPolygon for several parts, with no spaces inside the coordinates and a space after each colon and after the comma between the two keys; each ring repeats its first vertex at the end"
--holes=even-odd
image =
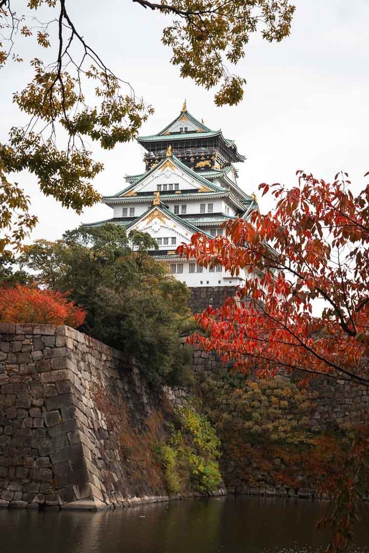
{"type": "Polygon", "coordinates": [[[220,436],[242,436],[256,444],[304,444],[312,407],[306,392],[288,379],[250,380],[225,378],[218,387],[214,380],[202,384],[210,399],[209,418],[220,436]]]}

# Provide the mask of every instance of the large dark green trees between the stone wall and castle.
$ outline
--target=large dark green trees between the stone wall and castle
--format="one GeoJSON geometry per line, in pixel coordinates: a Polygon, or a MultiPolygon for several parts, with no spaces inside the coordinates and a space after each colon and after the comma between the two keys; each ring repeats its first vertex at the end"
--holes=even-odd
{"type": "Polygon", "coordinates": [[[192,361],[180,337],[194,318],[186,286],[148,255],[155,247],[148,234],[107,224],[38,240],[19,261],[87,312],[82,331],[135,359],[150,382],[180,383],[192,361]]]}

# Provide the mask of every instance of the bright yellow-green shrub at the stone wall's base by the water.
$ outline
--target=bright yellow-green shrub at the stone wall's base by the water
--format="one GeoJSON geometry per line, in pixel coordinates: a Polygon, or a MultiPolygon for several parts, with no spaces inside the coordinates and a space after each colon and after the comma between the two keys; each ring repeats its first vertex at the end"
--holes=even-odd
{"type": "Polygon", "coordinates": [[[180,428],[173,428],[168,443],[156,450],[165,469],[168,492],[179,493],[189,487],[215,492],[222,480],[217,462],[220,441],[204,414],[186,406],[178,415],[180,428]]]}

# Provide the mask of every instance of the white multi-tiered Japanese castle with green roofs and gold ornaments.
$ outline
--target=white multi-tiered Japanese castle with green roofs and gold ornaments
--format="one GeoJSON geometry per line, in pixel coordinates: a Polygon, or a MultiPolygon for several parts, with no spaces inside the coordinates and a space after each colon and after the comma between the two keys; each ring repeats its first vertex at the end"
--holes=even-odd
{"type": "Polygon", "coordinates": [[[191,288],[241,284],[245,275],[232,276],[221,265],[205,268],[176,254],[179,244],[189,242],[194,233],[215,237],[224,232],[222,223],[247,220],[258,208],[256,198],[237,185],[233,164],[245,156],[235,142],[191,115],[186,102],[167,127],[137,142],[147,152],[145,172],[126,176],[123,190],[103,196],[113,210],[111,219],[87,226],[110,222],[123,225],[127,233],[149,233],[158,244],[150,254],[168,262],[170,272],[191,288]]]}

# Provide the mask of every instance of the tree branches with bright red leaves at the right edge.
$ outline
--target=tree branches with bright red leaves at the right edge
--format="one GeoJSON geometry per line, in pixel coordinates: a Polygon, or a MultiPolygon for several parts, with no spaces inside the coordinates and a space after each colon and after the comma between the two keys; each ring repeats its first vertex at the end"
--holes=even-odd
{"type": "MultiPolygon", "coordinates": [[[[368,387],[369,185],[354,197],[346,173],[332,183],[297,175],[291,189],[272,185],[273,213],[255,211],[250,222],[228,222],[226,237],[197,234],[178,248],[200,264],[248,275],[237,300],[198,316],[207,334],[189,341],[217,350],[244,374],[303,381],[325,375],[368,387]]],[[[269,190],[265,183],[259,188],[269,190]]],[[[366,429],[352,448],[357,462],[336,482],[336,509],[326,520],[334,533],[330,551],[345,551],[351,539],[369,482],[367,445],[366,429]]]]}

